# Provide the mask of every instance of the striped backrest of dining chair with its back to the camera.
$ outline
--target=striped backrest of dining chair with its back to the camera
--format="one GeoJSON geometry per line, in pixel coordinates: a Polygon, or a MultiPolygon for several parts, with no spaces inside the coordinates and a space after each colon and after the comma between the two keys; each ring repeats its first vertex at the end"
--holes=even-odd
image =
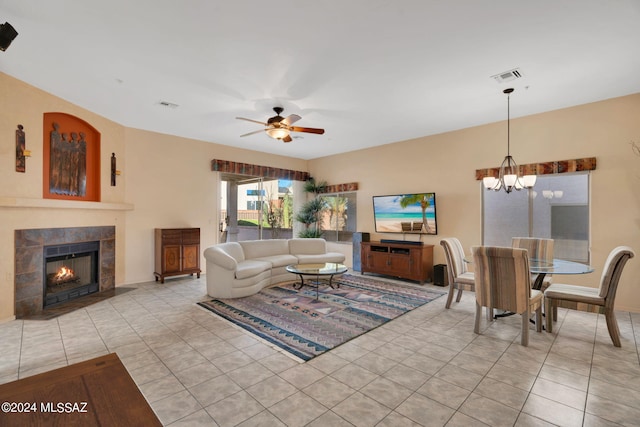
{"type": "Polygon", "coordinates": [[[474,246],[471,252],[478,304],[523,313],[531,297],[527,250],[474,246]]]}

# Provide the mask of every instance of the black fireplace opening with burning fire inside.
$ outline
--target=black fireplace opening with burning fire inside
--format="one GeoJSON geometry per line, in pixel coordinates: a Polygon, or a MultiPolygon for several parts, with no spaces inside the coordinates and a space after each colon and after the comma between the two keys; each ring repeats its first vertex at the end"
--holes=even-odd
{"type": "Polygon", "coordinates": [[[100,290],[100,242],[44,247],[43,308],[100,290]]]}

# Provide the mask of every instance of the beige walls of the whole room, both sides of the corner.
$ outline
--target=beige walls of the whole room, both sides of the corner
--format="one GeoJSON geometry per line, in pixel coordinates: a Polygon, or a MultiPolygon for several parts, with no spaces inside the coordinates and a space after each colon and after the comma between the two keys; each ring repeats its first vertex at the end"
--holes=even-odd
{"type": "MultiPolygon", "coordinates": [[[[309,170],[330,184],[358,182],[359,231],[373,232],[371,196],[435,191],[438,245],[457,236],[465,248],[481,241],[481,189],[475,169],[497,166],[505,155],[504,122],[479,126],[312,161],[125,128],[87,110],[0,73],[0,321],[13,316],[13,230],[20,228],[116,225],[116,284],[153,280],[153,229],[200,227],[202,246],[216,241],[219,194],[213,158],[309,170]],[[102,134],[102,203],[42,200],[42,114],[76,115],[102,134]],[[27,172],[15,172],[14,134],[25,127],[27,172]],[[122,175],[109,185],[109,157],[115,152],[122,175]]],[[[592,259],[596,272],[566,282],[595,284],[608,252],[620,244],[640,251],[640,158],[629,141],[640,141],[640,94],[512,120],[512,154],[520,163],[595,156],[591,179],[592,259]]],[[[374,235],[374,238],[389,237],[374,235]]],[[[349,245],[338,246],[351,257],[349,245]]],[[[333,249],[333,248],[332,248],[333,249]]],[[[631,260],[618,293],[617,308],[640,312],[631,260]]],[[[558,279],[556,279],[558,281],[558,279]]]]}

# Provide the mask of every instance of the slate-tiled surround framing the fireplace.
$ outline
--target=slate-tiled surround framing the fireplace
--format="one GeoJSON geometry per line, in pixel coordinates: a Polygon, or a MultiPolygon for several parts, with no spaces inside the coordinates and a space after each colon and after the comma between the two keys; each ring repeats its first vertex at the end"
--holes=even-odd
{"type": "Polygon", "coordinates": [[[115,226],[39,228],[15,231],[15,313],[40,314],[43,303],[44,246],[100,242],[100,292],[115,287],[115,226]]]}

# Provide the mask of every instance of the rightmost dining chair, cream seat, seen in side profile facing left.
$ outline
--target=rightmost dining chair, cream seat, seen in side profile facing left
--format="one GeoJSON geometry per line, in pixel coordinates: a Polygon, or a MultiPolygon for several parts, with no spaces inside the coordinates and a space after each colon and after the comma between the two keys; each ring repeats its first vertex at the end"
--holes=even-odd
{"type": "Polygon", "coordinates": [[[562,283],[554,283],[549,286],[544,291],[547,332],[553,331],[553,322],[558,320],[558,306],[604,314],[611,341],[614,346],[620,347],[620,329],[613,308],[622,269],[627,261],[634,256],[635,252],[628,246],[618,246],[613,249],[604,263],[598,288],[562,283]]]}

